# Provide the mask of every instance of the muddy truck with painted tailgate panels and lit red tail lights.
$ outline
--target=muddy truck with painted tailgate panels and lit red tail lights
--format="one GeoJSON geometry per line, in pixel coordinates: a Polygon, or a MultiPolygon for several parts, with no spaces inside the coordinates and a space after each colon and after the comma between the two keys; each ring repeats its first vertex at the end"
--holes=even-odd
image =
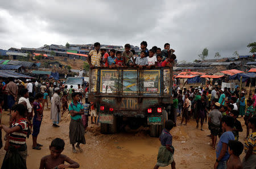
{"type": "Polygon", "coordinates": [[[113,134],[126,125],[146,126],[151,137],[158,137],[172,104],[172,67],[93,67],[88,101],[96,103],[101,133],[113,134]]]}

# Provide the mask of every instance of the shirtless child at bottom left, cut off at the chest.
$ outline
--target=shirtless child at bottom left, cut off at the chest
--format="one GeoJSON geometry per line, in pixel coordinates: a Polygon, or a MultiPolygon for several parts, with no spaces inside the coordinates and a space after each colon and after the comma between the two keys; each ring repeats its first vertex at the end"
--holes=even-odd
{"type": "Polygon", "coordinates": [[[49,150],[51,151],[50,155],[46,155],[41,159],[40,169],[57,169],[57,168],[79,168],[79,163],[68,158],[66,155],[61,154],[64,150],[65,142],[60,138],[55,138],[49,150]],[[69,164],[64,164],[68,162],[69,164]]]}

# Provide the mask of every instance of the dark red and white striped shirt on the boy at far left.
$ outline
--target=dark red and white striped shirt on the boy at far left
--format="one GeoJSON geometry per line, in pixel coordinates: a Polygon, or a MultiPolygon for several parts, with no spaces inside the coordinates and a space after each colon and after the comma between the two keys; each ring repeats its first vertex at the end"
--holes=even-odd
{"type": "Polygon", "coordinates": [[[26,144],[26,137],[28,133],[28,122],[26,119],[22,118],[17,122],[11,124],[11,128],[19,126],[20,130],[18,132],[13,132],[10,134],[9,143],[15,148],[19,148],[26,144]]]}

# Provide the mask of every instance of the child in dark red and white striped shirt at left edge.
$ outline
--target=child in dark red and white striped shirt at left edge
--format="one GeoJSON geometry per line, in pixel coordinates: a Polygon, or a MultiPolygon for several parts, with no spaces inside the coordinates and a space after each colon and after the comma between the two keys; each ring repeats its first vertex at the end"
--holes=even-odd
{"type": "Polygon", "coordinates": [[[28,133],[28,122],[25,119],[26,108],[22,104],[15,104],[11,107],[11,117],[13,122],[9,127],[0,125],[10,136],[7,137],[5,150],[6,155],[3,159],[2,168],[27,168],[27,145],[26,137],[28,133]]]}

